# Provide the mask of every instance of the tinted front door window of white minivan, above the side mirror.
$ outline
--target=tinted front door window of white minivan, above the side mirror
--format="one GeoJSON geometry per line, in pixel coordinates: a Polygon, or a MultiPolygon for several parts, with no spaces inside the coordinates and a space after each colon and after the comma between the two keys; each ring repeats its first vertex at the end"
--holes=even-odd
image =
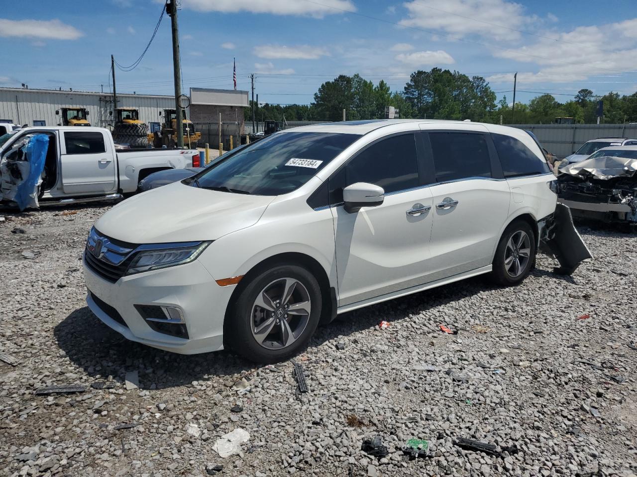
{"type": "Polygon", "coordinates": [[[391,193],[419,186],[416,142],[413,133],[382,139],[345,166],[346,185],[375,184],[391,193]]]}

